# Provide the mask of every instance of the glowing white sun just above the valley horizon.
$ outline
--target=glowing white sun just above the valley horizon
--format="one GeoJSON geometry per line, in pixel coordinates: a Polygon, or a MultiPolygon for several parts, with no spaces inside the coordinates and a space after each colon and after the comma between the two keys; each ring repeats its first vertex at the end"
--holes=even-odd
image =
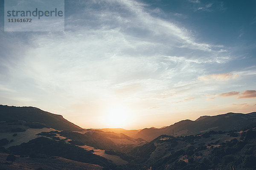
{"type": "Polygon", "coordinates": [[[128,110],[122,107],[110,108],[105,114],[105,122],[109,127],[124,127],[129,123],[128,110]]]}

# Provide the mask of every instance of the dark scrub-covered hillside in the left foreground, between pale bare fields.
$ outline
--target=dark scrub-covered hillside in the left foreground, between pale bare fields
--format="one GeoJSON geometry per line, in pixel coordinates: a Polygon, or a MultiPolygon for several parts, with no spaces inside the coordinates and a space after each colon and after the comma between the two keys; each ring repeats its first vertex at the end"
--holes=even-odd
{"type": "Polygon", "coordinates": [[[109,162],[107,159],[94,155],[81,147],[45,137],[33,139],[27,143],[20,144],[19,146],[9,147],[9,150],[13,154],[29,155],[32,158],[37,158],[43,154],[48,157],[59,156],[74,161],[99,164],[103,167],[116,167],[116,165],[109,162]]]}

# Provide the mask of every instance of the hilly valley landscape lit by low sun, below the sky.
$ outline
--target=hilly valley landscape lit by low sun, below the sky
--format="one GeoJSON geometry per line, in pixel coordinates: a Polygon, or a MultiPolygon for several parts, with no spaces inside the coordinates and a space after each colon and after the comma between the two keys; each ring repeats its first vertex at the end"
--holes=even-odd
{"type": "Polygon", "coordinates": [[[38,108],[0,105],[0,127],[3,170],[256,167],[256,112],[202,116],[159,129],[83,129],[38,108]],[[12,164],[5,160],[10,154],[12,164]]]}

